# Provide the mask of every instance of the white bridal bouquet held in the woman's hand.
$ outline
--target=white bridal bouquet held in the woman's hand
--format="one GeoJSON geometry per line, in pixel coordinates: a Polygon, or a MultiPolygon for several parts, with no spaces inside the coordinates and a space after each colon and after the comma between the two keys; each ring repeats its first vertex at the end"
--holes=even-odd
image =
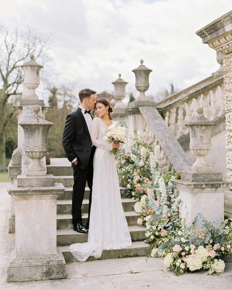
{"type": "MultiPolygon", "coordinates": [[[[109,131],[106,133],[104,137],[105,141],[108,142],[119,142],[124,143],[126,139],[126,128],[120,126],[117,122],[113,121],[112,125],[108,127],[109,131]]],[[[111,154],[116,155],[119,152],[118,148],[113,148],[111,154]]]]}

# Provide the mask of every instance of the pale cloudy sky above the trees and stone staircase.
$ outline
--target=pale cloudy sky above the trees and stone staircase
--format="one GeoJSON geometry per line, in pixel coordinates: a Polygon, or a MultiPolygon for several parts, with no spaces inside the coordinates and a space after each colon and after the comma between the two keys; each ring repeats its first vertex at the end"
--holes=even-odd
{"type": "Polygon", "coordinates": [[[121,73],[127,96],[138,97],[132,70],[143,59],[152,70],[146,95],[158,100],[170,83],[185,89],[219,68],[216,52],[195,32],[230,11],[232,1],[1,0],[0,6],[5,27],[50,35],[51,61],[43,70],[54,85],[112,93],[121,73]]]}

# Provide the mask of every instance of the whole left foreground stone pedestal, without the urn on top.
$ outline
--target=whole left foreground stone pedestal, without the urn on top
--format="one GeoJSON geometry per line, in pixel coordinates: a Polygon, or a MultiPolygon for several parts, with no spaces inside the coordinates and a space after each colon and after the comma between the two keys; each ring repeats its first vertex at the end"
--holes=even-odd
{"type": "Polygon", "coordinates": [[[64,190],[53,175],[21,175],[8,187],[16,214],[8,282],[66,278],[65,259],[56,248],[56,199],[64,190]]]}

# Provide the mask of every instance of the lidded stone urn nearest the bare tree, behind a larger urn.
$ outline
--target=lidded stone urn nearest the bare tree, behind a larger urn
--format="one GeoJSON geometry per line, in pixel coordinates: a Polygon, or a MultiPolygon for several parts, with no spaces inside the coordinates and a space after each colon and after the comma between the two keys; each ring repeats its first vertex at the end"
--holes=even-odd
{"type": "Polygon", "coordinates": [[[30,59],[30,61],[21,66],[24,71],[23,85],[26,87],[23,91],[23,98],[38,99],[35,89],[37,89],[40,84],[39,73],[43,66],[35,62],[34,55],[30,55],[30,59]]]}

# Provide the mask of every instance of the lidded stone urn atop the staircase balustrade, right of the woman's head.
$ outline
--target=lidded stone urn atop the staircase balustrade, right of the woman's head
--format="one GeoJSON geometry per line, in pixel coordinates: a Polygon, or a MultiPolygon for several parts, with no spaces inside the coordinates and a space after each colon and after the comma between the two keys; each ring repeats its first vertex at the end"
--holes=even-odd
{"type": "Polygon", "coordinates": [[[140,63],[141,65],[132,71],[136,76],[136,89],[140,92],[138,100],[149,101],[150,99],[145,96],[145,92],[149,88],[149,74],[152,72],[152,70],[143,65],[143,59],[140,60],[140,63]]]}

